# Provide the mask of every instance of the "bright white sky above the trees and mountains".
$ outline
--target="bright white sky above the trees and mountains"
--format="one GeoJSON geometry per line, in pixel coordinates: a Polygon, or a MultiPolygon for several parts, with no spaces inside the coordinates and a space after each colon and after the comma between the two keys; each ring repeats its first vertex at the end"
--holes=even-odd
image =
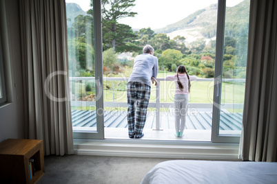
{"type": "MultiPolygon", "coordinates": [[[[226,5],[232,7],[241,1],[243,0],[226,0],[226,5]]],[[[90,0],[65,0],[65,2],[77,3],[84,11],[90,9],[90,0]]],[[[138,14],[135,17],[120,19],[119,23],[130,25],[133,29],[151,27],[151,30],[155,30],[181,21],[189,14],[217,2],[217,0],[136,0],[136,5],[131,11],[138,14]]]]}

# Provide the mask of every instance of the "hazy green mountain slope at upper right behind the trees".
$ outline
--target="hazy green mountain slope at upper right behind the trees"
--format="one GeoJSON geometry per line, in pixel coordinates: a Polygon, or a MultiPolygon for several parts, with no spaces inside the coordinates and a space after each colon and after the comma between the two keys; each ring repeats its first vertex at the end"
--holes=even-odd
{"type": "MultiPolygon", "coordinates": [[[[248,30],[249,1],[245,0],[234,7],[226,8],[225,36],[234,37],[238,32],[248,30]]],[[[212,4],[190,14],[181,21],[154,30],[154,32],[165,33],[170,38],[178,35],[185,36],[187,43],[198,38],[204,38],[208,41],[216,38],[216,23],[217,4],[212,4]]]]}

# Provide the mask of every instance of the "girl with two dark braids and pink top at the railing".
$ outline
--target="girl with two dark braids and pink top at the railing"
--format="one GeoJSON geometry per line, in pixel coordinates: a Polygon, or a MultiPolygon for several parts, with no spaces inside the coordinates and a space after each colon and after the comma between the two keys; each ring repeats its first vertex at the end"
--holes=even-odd
{"type": "Polygon", "coordinates": [[[175,136],[183,137],[183,132],[185,130],[185,117],[187,115],[187,104],[189,102],[190,80],[195,80],[196,76],[189,76],[187,74],[187,69],[185,69],[185,66],[180,65],[177,68],[177,74],[175,76],[167,76],[166,79],[175,81],[175,136]]]}

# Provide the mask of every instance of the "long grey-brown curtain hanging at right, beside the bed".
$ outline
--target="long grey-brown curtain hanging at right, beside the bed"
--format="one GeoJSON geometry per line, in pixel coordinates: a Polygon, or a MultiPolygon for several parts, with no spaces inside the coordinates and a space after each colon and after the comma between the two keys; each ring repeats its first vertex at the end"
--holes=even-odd
{"type": "Polygon", "coordinates": [[[277,1],[252,0],[241,158],[277,161],[277,1]],[[243,145],[242,145],[243,144],[243,145]]]}

